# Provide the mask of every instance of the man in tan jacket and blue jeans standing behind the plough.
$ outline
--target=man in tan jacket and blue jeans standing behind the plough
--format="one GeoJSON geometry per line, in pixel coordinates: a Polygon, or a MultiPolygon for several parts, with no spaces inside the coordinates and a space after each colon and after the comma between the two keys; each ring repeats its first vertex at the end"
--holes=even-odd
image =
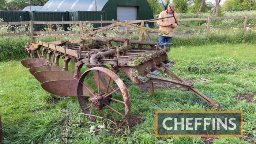
{"type": "MultiPolygon", "coordinates": [[[[174,4],[168,5],[167,10],[162,11],[159,14],[159,18],[175,16],[177,23],[178,23],[179,18],[178,18],[178,15],[174,12],[174,8],[175,8],[174,4]],[[171,10],[171,8],[172,8],[172,10],[171,10]]],[[[177,23],[175,22],[175,19],[173,17],[157,20],[157,24],[159,25],[159,30],[166,31],[166,33],[169,33],[167,35],[159,34],[159,43],[172,43],[174,27],[178,26],[177,23]]],[[[170,49],[170,45],[166,45],[166,46],[168,49],[170,49]]],[[[164,45],[160,45],[159,47],[163,49],[164,45]]]]}

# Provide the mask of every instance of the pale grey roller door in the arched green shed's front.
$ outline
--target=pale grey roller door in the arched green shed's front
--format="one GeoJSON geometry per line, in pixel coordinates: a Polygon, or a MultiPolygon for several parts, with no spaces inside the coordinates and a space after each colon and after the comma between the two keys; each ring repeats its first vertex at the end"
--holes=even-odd
{"type": "Polygon", "coordinates": [[[137,20],[137,7],[117,6],[117,19],[137,20]]]}

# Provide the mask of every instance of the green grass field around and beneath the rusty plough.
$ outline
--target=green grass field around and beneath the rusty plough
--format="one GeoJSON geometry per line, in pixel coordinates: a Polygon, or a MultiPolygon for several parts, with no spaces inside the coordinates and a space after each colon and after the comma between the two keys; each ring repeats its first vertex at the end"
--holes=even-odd
{"type": "MultiPolygon", "coordinates": [[[[91,132],[103,122],[88,123],[77,98],[49,94],[20,61],[0,62],[0,114],[3,143],[256,143],[256,46],[205,45],[173,48],[174,72],[218,101],[218,110],[244,111],[244,137],[155,137],[156,110],[213,110],[179,87],[159,87],[152,97],[129,86],[132,115],[143,122],[115,132],[91,132]],[[200,79],[207,82],[200,82],[200,79]]],[[[165,75],[163,75],[165,76],[165,75]]]]}

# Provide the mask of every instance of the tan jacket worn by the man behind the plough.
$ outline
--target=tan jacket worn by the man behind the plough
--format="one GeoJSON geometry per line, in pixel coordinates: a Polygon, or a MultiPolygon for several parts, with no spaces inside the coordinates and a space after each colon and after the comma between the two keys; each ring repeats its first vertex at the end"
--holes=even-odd
{"type": "MultiPolygon", "coordinates": [[[[174,13],[174,16],[175,16],[177,22],[179,22],[178,14],[174,13]]],[[[167,14],[166,10],[162,11],[159,14],[159,18],[164,18],[164,17],[168,17],[168,14],[167,14]]],[[[167,23],[174,24],[175,27],[178,26],[177,23],[175,23],[175,19],[174,18],[171,18],[170,21],[168,21],[168,18],[157,20],[157,24],[159,25],[159,30],[166,31],[167,33],[169,33],[168,35],[162,35],[162,36],[172,37],[173,33],[174,33],[174,28],[171,27],[171,26],[167,27],[167,23]]],[[[161,35],[161,34],[159,34],[159,35],[161,35]]]]}

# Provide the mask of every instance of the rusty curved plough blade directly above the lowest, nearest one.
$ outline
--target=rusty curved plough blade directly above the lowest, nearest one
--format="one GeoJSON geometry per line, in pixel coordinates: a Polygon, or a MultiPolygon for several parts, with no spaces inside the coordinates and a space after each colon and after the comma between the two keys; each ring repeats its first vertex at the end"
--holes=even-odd
{"type": "MultiPolygon", "coordinates": [[[[73,80],[74,75],[68,71],[39,71],[34,73],[39,82],[48,82],[54,80],[73,80]]],[[[61,85],[59,85],[61,87],[61,85]]]]}

